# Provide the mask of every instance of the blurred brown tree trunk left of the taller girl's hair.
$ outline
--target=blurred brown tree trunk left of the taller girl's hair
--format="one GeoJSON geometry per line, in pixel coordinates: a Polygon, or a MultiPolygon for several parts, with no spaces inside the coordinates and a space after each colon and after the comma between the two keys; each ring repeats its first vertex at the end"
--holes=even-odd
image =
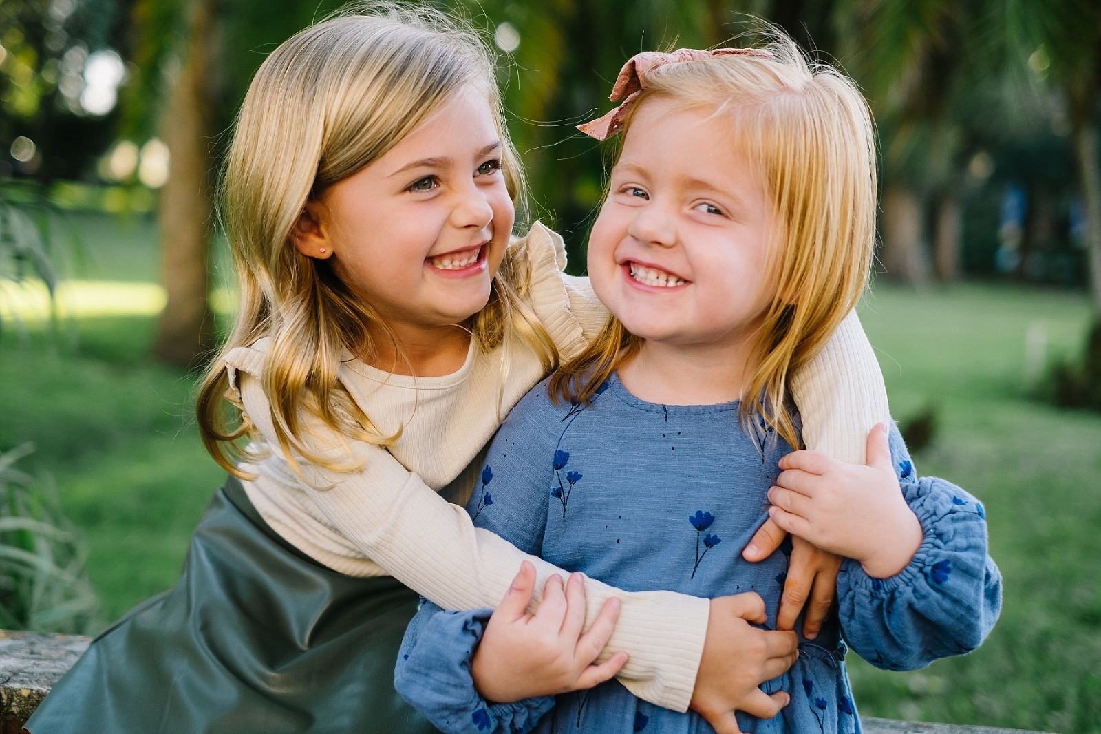
{"type": "Polygon", "coordinates": [[[172,168],[161,191],[164,288],[157,358],[189,365],[214,345],[207,304],[210,203],[210,97],[207,91],[210,3],[200,0],[192,20],[187,58],[170,93],[162,120],[172,168]]]}

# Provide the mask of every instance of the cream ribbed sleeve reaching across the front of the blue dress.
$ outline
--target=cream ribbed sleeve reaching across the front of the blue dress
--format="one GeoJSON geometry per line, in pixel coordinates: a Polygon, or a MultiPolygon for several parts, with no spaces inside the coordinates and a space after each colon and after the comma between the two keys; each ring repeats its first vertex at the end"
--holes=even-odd
{"type": "MultiPolygon", "coordinates": [[[[259,374],[259,365],[248,371],[242,367],[235,376],[244,411],[269,445],[277,446],[268,399],[252,371],[259,374]]],[[[310,428],[327,434],[321,427],[310,428]]],[[[347,456],[336,438],[330,441],[317,447],[347,456]]],[[[567,575],[488,530],[476,530],[464,508],[449,505],[384,449],[363,442],[351,442],[350,449],[366,461],[349,474],[302,462],[313,485],[330,486],[310,488],[310,498],[364,555],[442,607],[497,606],[524,560],[537,571],[536,602],[552,574],[567,575]]],[[[656,705],[686,711],[707,637],[708,600],[671,592],[628,593],[591,579],[585,590],[586,629],[606,601],[622,602],[604,655],[630,655],[619,676],[624,684],[656,705]]]]}

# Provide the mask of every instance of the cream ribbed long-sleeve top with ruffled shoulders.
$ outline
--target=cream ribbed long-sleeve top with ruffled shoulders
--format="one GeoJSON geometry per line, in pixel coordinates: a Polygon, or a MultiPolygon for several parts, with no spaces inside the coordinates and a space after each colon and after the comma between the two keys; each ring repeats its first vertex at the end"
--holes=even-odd
{"type": "MultiPolygon", "coordinates": [[[[528,234],[530,305],[563,359],[576,356],[603,324],[606,311],[588,280],[565,276],[562,238],[536,224],[528,234]]],[[[347,445],[362,468],[337,474],[299,460],[308,484],[276,446],[271,409],[261,387],[269,346],[260,339],[225,356],[231,389],[259,435],[264,458],[242,465],[244,483],[264,520],[293,546],[328,568],[355,576],[390,574],[444,608],[497,606],[523,560],[538,572],[537,589],[565,572],[476,529],[462,505],[473,487],[481,452],[504,415],[544,377],[538,358],[520,342],[491,349],[471,344],[462,367],[444,377],[414,378],[345,361],[338,377],[383,434],[401,436],[382,449],[347,445]],[[314,487],[329,486],[318,490],[314,487]],[[457,504],[449,504],[451,500],[457,504]]],[[[855,313],[822,354],[793,380],[808,447],[863,463],[868,431],[887,419],[886,391],[855,313]]],[[[345,451],[346,449],[331,449],[345,451]]],[[[344,454],[345,456],[347,453],[344,454]]],[[[610,596],[622,601],[604,656],[625,650],[619,678],[635,695],[686,711],[707,633],[708,600],[671,592],[628,593],[586,581],[588,623],[610,596]]]]}

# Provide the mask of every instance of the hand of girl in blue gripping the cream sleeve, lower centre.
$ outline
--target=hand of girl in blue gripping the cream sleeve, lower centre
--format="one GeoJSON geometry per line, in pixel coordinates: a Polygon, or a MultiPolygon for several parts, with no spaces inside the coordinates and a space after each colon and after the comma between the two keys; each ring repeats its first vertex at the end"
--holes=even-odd
{"type": "Polygon", "coordinates": [[[547,579],[543,603],[528,614],[534,591],[535,566],[524,561],[486,625],[470,673],[478,692],[489,701],[509,703],[592,688],[626,662],[626,652],[593,662],[612,635],[620,612],[618,598],[604,602],[592,628],[582,635],[585,581],[580,573],[569,575],[565,593],[558,574],[547,579]]]}

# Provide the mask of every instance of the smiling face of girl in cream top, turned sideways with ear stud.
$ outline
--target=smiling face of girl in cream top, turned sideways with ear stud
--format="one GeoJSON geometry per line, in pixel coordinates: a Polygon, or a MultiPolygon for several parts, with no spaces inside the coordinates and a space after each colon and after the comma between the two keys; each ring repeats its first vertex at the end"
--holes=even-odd
{"type": "Polygon", "coordinates": [[[487,94],[456,90],[379,160],[306,205],[294,234],[401,333],[486,306],[515,216],[487,94]],[[321,248],[325,248],[323,251],[321,248]]]}

